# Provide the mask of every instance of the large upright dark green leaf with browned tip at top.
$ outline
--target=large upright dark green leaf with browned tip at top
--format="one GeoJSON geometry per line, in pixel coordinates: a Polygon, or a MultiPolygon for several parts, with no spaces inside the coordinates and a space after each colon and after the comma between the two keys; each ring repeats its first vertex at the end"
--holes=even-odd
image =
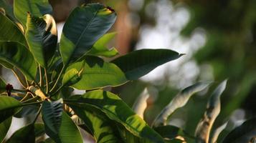
{"type": "Polygon", "coordinates": [[[60,39],[63,63],[67,65],[89,51],[115,19],[115,12],[103,4],[85,4],[75,8],[63,27],[60,39]]]}

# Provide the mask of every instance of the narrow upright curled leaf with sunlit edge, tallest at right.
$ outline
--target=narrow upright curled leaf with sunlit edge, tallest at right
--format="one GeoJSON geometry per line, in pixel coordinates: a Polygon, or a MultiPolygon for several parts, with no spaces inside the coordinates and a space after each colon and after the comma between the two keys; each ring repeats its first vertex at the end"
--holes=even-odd
{"type": "Polygon", "coordinates": [[[220,96],[224,89],[226,88],[227,80],[224,80],[212,93],[208,103],[207,110],[204,112],[204,116],[200,120],[196,127],[196,140],[198,142],[209,142],[209,134],[212,129],[212,124],[214,124],[215,119],[220,112],[220,96]]]}

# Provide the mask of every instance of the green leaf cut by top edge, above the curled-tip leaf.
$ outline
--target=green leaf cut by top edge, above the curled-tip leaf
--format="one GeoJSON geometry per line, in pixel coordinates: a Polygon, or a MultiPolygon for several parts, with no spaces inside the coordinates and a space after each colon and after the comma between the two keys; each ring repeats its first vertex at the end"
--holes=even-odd
{"type": "Polygon", "coordinates": [[[52,14],[52,6],[48,0],[14,0],[14,15],[26,29],[27,12],[33,16],[43,16],[44,14],[52,14]]]}

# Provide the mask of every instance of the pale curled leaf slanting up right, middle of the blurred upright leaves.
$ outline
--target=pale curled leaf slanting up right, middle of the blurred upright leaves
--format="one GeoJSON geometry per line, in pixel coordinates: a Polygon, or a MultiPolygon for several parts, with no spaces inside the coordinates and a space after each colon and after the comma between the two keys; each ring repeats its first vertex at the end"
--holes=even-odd
{"type": "Polygon", "coordinates": [[[210,82],[198,82],[186,89],[183,89],[179,94],[171,100],[171,102],[161,111],[153,122],[153,127],[158,127],[160,124],[166,125],[166,120],[174,113],[176,109],[184,107],[189,101],[189,98],[196,92],[200,92],[208,87],[210,82]]]}

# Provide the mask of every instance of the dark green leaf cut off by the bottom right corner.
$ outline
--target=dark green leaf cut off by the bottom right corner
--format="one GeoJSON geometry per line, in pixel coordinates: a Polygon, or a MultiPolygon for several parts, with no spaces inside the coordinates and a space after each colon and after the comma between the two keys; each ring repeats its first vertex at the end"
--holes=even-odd
{"type": "Polygon", "coordinates": [[[227,137],[224,138],[222,143],[240,143],[250,142],[252,137],[256,135],[256,118],[248,119],[239,127],[233,129],[227,137]]]}

